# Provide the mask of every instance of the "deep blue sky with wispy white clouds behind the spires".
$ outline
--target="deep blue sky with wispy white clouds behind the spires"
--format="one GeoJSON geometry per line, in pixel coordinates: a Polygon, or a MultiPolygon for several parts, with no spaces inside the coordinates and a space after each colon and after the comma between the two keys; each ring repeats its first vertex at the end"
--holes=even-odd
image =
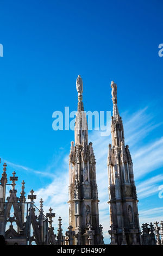
{"type": "MultiPolygon", "coordinates": [[[[134,162],[140,223],[161,221],[163,198],[162,1],[0,1],[1,172],[42,197],[68,227],[68,154],[73,131],[52,129],[54,111],[112,111],[110,83],[134,162]]],[[[106,158],[111,137],[89,131],[97,162],[100,221],[109,239],[106,158]]]]}

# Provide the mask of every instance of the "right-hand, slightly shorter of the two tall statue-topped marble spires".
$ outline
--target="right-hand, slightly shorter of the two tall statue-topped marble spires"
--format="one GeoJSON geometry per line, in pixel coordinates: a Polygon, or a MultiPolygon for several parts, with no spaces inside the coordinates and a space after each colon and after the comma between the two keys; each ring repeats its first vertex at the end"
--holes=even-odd
{"type": "MultiPolygon", "coordinates": [[[[137,194],[134,182],[133,162],[128,145],[124,144],[122,118],[117,107],[117,84],[111,82],[113,112],[111,117],[111,139],[108,150],[108,191],[110,223],[114,229],[117,245],[141,244],[137,194]],[[133,236],[133,227],[134,234],[133,236]],[[133,239],[134,237],[134,239],[133,239]]],[[[110,231],[111,234],[111,231],[110,231]]]]}

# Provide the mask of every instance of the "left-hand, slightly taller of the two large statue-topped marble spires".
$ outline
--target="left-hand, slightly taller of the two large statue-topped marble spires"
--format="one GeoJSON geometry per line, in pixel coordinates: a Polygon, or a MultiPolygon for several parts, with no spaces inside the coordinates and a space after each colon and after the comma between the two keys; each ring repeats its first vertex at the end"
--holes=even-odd
{"type": "Polygon", "coordinates": [[[69,224],[72,230],[76,232],[76,236],[73,237],[74,244],[89,245],[87,231],[89,225],[91,225],[93,232],[91,243],[94,241],[98,245],[100,230],[96,160],[92,143],[88,143],[88,127],[83,106],[83,80],[80,75],[77,77],[76,88],[78,92],[78,111],[76,112],[74,126],[75,143],[71,142],[69,157],[69,224]]]}

